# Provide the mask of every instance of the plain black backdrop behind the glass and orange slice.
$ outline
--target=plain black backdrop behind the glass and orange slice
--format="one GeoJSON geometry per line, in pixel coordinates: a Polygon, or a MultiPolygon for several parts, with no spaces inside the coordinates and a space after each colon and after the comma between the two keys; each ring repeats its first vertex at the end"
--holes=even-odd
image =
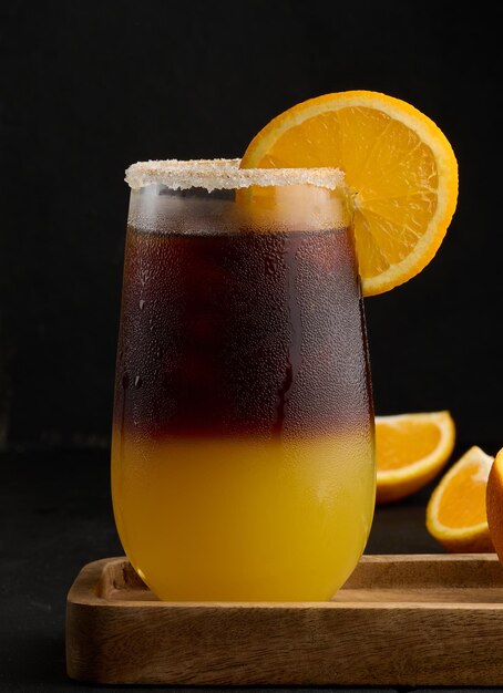
{"type": "Polygon", "coordinates": [[[239,156],[275,115],[382,91],[444,131],[460,198],[431,265],[366,301],[376,408],[503,444],[497,28],[484,3],[1,7],[0,441],[110,441],[129,188],[145,158],[239,156]]]}

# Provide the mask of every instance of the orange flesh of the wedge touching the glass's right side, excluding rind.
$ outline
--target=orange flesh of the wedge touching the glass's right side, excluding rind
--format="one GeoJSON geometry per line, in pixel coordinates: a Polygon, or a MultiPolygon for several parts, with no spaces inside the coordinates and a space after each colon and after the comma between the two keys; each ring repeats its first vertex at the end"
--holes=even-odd
{"type": "Polygon", "coordinates": [[[437,426],[408,428],[386,426],[386,434],[384,431],[381,434],[380,427],[376,427],[376,457],[380,470],[407,467],[437,448],[441,436],[437,426]]]}

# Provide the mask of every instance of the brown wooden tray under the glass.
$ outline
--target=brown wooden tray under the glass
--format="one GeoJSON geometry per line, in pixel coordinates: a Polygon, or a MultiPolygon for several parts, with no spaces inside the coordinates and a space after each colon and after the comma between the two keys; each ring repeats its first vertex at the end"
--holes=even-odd
{"type": "Polygon", "coordinates": [[[329,602],[162,602],[125,558],[68,594],[66,664],[95,683],[503,684],[494,554],[363,556],[329,602]]]}

